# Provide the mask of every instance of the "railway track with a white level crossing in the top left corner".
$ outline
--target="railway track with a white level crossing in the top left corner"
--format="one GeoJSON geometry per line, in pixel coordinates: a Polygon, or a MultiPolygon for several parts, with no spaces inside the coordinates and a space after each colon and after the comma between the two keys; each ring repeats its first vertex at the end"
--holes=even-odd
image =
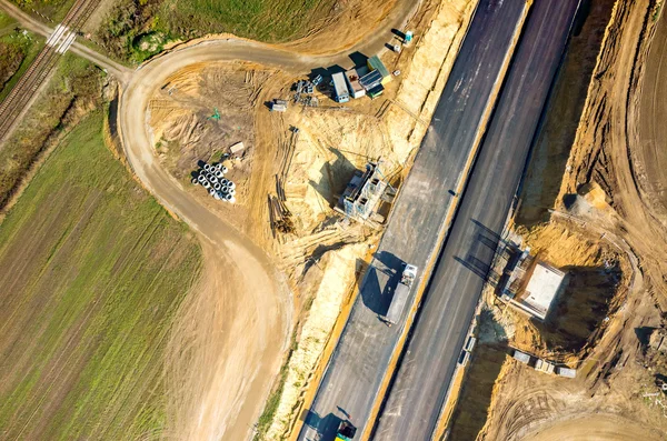
{"type": "MultiPolygon", "coordinates": [[[[0,142],[6,141],[19,116],[30,106],[37,90],[77,38],[77,31],[99,4],[99,0],[77,0],[30,68],[0,103],[0,142]]],[[[1,148],[1,147],[0,147],[1,148]]]]}

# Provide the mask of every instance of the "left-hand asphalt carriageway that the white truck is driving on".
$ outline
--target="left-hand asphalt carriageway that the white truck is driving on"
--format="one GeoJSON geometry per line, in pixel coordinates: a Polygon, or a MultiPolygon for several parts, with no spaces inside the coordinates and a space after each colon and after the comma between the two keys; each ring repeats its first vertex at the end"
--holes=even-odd
{"type": "Polygon", "coordinates": [[[484,132],[525,8],[524,1],[480,1],[299,439],[319,433],[322,441],[332,440],[341,419],[364,431],[409,308],[392,328],[378,315],[388,309],[401,263],[424,271],[439,252],[454,199],[449,191],[458,188],[484,132]]]}

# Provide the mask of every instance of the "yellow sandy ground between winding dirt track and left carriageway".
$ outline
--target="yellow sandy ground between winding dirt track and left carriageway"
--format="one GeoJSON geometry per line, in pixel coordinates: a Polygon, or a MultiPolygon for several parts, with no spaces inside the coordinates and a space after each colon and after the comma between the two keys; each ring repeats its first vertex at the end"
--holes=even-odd
{"type": "MultiPolygon", "coordinates": [[[[430,119],[454,61],[454,57],[439,49],[442,41],[460,38],[458,31],[472,7],[474,2],[467,0],[445,1],[438,8],[426,4],[414,29],[419,36],[421,29],[429,31],[401,57],[384,56],[391,69],[401,69],[399,80],[402,81],[392,81],[380,100],[354,100],[347,104],[348,111],[336,110],[337,106],[328,97],[318,93],[320,108],[290,104],[287,113],[268,112],[263,103],[272,98],[289,99],[290,84],[300,78],[290,73],[289,68],[299,63],[293,56],[279,52],[271,56],[268,51],[266,56],[260,52],[252,63],[220,60],[211,63],[195,54],[193,59],[201,62],[183,64],[178,70],[170,68],[173,73],[161,80],[151,96],[147,122],[160,163],[191,198],[223,217],[273,257],[295,293],[295,314],[303,319],[277,418],[267,439],[280,438],[291,428],[296,404],[312,385],[310,377],[358,275],[358,262],[367,253],[368,243],[377,240],[371,229],[344,224],[332,207],[354,171],[368,160],[381,158],[385,174],[395,182],[400,181],[402,166],[426,130],[421,121],[430,119]],[[275,69],[276,62],[288,69],[275,69]],[[218,108],[222,117],[219,122],[207,120],[213,108],[218,108]],[[293,127],[299,128],[298,137],[293,136],[293,127]],[[201,188],[189,186],[188,172],[198,159],[206,159],[237,141],[246,144],[242,177],[235,179],[241,194],[239,203],[216,203],[199,191],[201,188]],[[273,174],[282,151],[292,142],[285,192],[296,230],[291,234],[279,234],[275,240],[268,228],[266,198],[275,191],[273,174]]],[[[211,284],[215,280],[202,284],[202,290],[217,289],[211,284]]],[[[207,297],[210,301],[215,299],[203,292],[199,295],[201,302],[207,297]]],[[[195,314],[192,311],[186,317],[195,314]]],[[[220,324],[209,320],[206,327],[213,330],[220,324]]],[[[178,333],[197,334],[195,329],[178,333]]],[[[225,351],[222,343],[213,347],[225,351]]],[[[215,364],[215,360],[209,363],[215,364]]],[[[175,378],[183,378],[187,372],[180,373],[175,378]]],[[[193,390],[203,390],[207,381],[215,378],[216,373],[209,372],[189,381],[197,384],[193,390]]],[[[197,400],[189,397],[175,403],[173,409],[181,415],[193,415],[197,400]]],[[[208,408],[205,417],[212,417],[215,411],[218,410],[208,408]]],[[[190,432],[181,433],[196,433],[200,425],[191,424],[187,429],[190,432]]]]}

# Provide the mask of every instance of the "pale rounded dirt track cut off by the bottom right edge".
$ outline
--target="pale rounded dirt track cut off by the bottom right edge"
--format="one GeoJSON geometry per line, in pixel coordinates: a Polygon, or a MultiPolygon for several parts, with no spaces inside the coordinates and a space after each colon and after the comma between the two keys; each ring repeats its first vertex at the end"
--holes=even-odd
{"type": "Polygon", "coordinates": [[[659,441],[660,439],[641,424],[618,415],[587,415],[555,422],[521,438],[525,441],[659,441]]]}

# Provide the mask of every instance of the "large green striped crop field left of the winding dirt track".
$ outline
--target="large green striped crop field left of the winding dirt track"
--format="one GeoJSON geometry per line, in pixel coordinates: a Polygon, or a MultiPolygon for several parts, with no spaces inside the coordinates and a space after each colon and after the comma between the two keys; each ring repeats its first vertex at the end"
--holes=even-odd
{"type": "Polygon", "coordinates": [[[153,439],[163,351],[201,252],[113,159],[102,114],[0,225],[0,439],[153,439]]]}

